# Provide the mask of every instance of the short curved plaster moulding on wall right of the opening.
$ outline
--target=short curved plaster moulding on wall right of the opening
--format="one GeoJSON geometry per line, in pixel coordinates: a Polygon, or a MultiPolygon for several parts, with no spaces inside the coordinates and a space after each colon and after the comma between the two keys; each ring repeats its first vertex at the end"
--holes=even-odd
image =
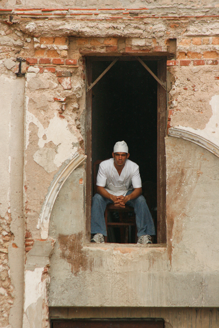
{"type": "Polygon", "coordinates": [[[219,147],[200,135],[178,128],[170,128],[168,130],[168,135],[171,137],[182,138],[184,140],[191,141],[194,144],[207,149],[209,152],[219,157],[219,147]]]}

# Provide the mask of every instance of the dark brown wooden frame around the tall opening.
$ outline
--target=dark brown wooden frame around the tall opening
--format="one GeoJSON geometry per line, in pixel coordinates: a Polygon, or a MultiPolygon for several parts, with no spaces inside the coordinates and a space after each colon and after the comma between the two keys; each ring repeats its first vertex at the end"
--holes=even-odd
{"type": "MultiPolygon", "coordinates": [[[[140,56],[140,55],[139,55],[140,56]]],[[[92,83],[92,61],[113,60],[113,57],[87,56],[86,57],[86,85],[92,83]]],[[[167,58],[166,56],[141,56],[142,60],[157,60],[157,77],[166,83],[167,58]]],[[[120,60],[137,60],[134,57],[123,56],[120,60]],[[127,58],[127,59],[126,59],[127,58]]],[[[99,81],[101,83],[101,81],[99,81]]],[[[90,241],[90,219],[92,201],[92,89],[86,94],[86,241],[90,241]]],[[[167,242],[166,227],[166,154],[165,136],[167,131],[167,93],[157,83],[157,243],[167,242]]]]}

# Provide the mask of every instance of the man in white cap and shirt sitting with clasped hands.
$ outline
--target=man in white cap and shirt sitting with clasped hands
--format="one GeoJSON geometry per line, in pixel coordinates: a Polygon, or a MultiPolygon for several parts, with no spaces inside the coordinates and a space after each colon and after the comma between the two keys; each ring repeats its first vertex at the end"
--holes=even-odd
{"type": "Polygon", "coordinates": [[[91,207],[91,242],[104,242],[107,236],[104,212],[107,204],[125,208],[125,204],[134,208],[137,226],[137,243],[151,244],[151,235],[155,235],[153,219],[145,198],[142,196],[142,181],[139,167],[129,160],[128,146],[125,141],[116,142],[112,157],[99,165],[96,179],[97,194],[91,207]]]}

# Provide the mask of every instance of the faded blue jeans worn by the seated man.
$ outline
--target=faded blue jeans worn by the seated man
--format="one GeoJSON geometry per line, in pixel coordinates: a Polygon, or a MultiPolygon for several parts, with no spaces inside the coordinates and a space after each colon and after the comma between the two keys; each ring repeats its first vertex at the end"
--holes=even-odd
{"type": "MultiPolygon", "coordinates": [[[[126,195],[132,193],[129,190],[126,195]]],[[[107,204],[112,203],[112,200],[105,198],[99,194],[95,194],[92,199],[91,207],[91,233],[102,234],[107,236],[106,223],[104,218],[104,212],[107,204]]],[[[151,213],[148,209],[144,196],[139,196],[135,199],[129,200],[126,203],[128,206],[134,208],[136,226],[137,226],[137,237],[143,235],[155,235],[155,229],[151,213]]]]}

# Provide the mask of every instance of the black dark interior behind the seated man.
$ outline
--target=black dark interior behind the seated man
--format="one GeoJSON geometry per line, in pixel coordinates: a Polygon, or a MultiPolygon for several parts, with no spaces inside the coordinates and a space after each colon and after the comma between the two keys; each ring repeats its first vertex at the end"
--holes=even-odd
{"type": "MultiPolygon", "coordinates": [[[[92,60],[92,82],[112,62],[102,59],[92,60]]],[[[157,75],[157,61],[144,61],[157,75]]],[[[118,60],[92,89],[92,163],[111,158],[115,142],[122,140],[129,159],[140,166],[156,228],[157,82],[137,60],[118,60]]],[[[109,241],[120,242],[116,228],[111,229],[115,233],[109,241]]]]}

